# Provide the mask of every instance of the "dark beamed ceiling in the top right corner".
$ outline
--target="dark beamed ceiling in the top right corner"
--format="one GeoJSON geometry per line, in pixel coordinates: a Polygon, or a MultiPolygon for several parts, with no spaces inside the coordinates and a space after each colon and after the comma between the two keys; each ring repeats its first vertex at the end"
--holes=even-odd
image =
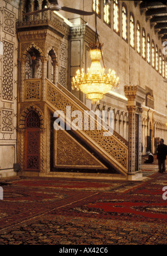
{"type": "Polygon", "coordinates": [[[141,14],[145,12],[146,21],[154,26],[162,41],[167,41],[167,0],[166,1],[135,1],[140,4],[141,14]]]}

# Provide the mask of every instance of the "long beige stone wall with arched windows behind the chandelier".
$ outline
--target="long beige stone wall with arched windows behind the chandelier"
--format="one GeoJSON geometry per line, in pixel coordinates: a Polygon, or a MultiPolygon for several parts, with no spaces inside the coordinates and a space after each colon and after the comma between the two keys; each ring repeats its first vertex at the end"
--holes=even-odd
{"type": "MultiPolygon", "coordinates": [[[[72,1],[71,6],[75,8],[76,1],[72,1]]],[[[82,1],[80,1],[82,2],[82,1]]],[[[120,78],[119,88],[116,88],[115,91],[109,93],[105,96],[104,99],[100,102],[100,108],[104,107],[105,109],[111,108],[115,111],[115,129],[121,135],[124,136],[125,139],[128,139],[126,125],[123,119],[123,116],[127,115],[126,104],[127,100],[124,95],[124,85],[139,85],[141,88],[146,89],[146,91],[150,91],[151,95],[148,96],[148,100],[144,102],[144,112],[143,112],[143,154],[146,153],[147,150],[147,136],[149,136],[150,124],[152,129],[152,143],[151,143],[151,151],[153,153],[156,150],[155,139],[158,137],[163,137],[165,143],[167,143],[167,131],[166,131],[166,102],[167,102],[167,86],[164,82],[167,71],[165,72],[165,78],[159,74],[159,71],[156,71],[147,60],[144,60],[141,54],[137,53],[136,50],[136,22],[140,23],[140,45],[142,42],[142,29],[145,29],[146,41],[147,36],[150,36],[150,42],[154,40],[155,46],[158,46],[163,52],[163,45],[161,38],[158,36],[158,33],[154,30],[154,26],[151,26],[150,21],[146,20],[145,12],[141,12],[140,5],[135,4],[137,1],[119,1],[120,3],[120,18],[119,18],[119,27],[120,31],[117,34],[114,31],[113,25],[113,1],[111,1],[111,26],[108,26],[104,23],[104,11],[103,4],[101,1],[101,16],[97,17],[97,32],[99,33],[100,42],[104,43],[102,48],[103,56],[104,56],[104,64],[106,67],[106,71],[109,68],[114,69],[116,71],[116,75],[120,78]],[[122,38],[122,3],[126,4],[127,7],[127,41],[122,38]],[[135,47],[132,48],[130,46],[130,13],[134,15],[134,27],[135,27],[135,47]],[[119,95],[118,95],[119,94],[119,95]],[[123,97],[123,98],[122,98],[123,97]],[[117,113],[117,117],[116,117],[117,113]],[[122,113],[122,114],[121,114],[122,113]],[[123,125],[124,123],[124,125],[123,125]],[[145,127],[145,129],[144,129],[145,127]]],[[[140,1],[139,1],[140,2],[140,1]]],[[[60,1],[60,4],[66,4],[66,1],[60,1]]],[[[83,3],[80,4],[80,9],[83,9],[83,3]]],[[[84,1],[84,10],[91,11],[92,10],[92,1],[85,0],[84,1]]],[[[95,17],[94,16],[84,16],[84,21],[77,19],[76,15],[72,13],[62,12],[66,18],[73,18],[71,22],[75,24],[78,21],[78,26],[82,24],[85,25],[87,22],[87,26],[95,31],[95,17]],[[75,21],[75,23],[74,23],[75,21]]],[[[93,33],[93,32],[92,32],[93,33]]],[[[75,40],[80,38],[82,41],[82,36],[75,36],[75,40]]],[[[78,62],[81,67],[85,69],[90,66],[90,61],[88,59],[87,52],[87,40],[85,38],[85,49],[84,55],[81,47],[81,52],[78,55],[75,55],[76,58],[80,58],[82,56],[82,62],[78,62]]],[[[81,44],[82,45],[82,44],[81,44]]],[[[142,52],[142,48],[141,48],[142,52]]],[[[151,49],[150,49],[151,52],[151,49]]],[[[147,53],[147,45],[146,45],[146,53],[147,53]]],[[[163,54],[162,54],[163,56],[163,54]]],[[[71,56],[72,57],[72,56],[71,56]]],[[[102,62],[101,62],[101,65],[102,62]]],[[[76,68],[78,69],[78,67],[76,68]]],[[[165,67],[166,69],[166,67],[165,67]]],[[[72,70],[72,74],[75,73],[72,70]]],[[[78,96],[82,100],[82,97],[79,93],[74,91],[74,94],[78,96]]],[[[85,103],[89,108],[91,108],[91,104],[89,100],[85,100],[85,103]]]]}

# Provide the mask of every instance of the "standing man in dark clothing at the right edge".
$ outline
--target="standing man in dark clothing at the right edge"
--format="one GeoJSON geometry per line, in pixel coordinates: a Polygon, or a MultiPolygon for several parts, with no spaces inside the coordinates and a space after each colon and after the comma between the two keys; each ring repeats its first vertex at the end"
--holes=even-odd
{"type": "Polygon", "coordinates": [[[164,139],[160,139],[160,144],[157,147],[157,159],[158,159],[159,172],[161,173],[165,172],[166,154],[167,154],[167,146],[164,144],[164,139]]]}

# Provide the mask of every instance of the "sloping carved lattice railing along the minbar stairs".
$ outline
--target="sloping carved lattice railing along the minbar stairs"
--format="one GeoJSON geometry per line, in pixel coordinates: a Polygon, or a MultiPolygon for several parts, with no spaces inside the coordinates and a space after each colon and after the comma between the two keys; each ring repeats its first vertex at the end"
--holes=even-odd
{"type": "MultiPolygon", "coordinates": [[[[89,110],[83,103],[80,102],[74,95],[67,91],[65,88],[62,88],[60,85],[55,86],[48,79],[46,79],[46,102],[50,105],[53,111],[61,110],[65,114],[66,124],[68,123],[68,118],[66,115],[66,107],[71,107],[71,113],[74,110],[80,110],[82,113],[81,123],[84,124],[84,113],[85,110],[89,110]],[[58,88],[59,87],[59,88],[58,88]],[[61,89],[60,89],[61,88],[61,89]]],[[[72,120],[72,118],[71,118],[72,120]]],[[[89,115],[89,127],[90,123],[89,115]]],[[[95,120],[95,129],[87,130],[76,130],[75,133],[84,141],[93,147],[96,152],[99,152],[102,157],[108,162],[110,162],[117,171],[122,175],[127,174],[128,170],[128,147],[127,142],[119,134],[115,133],[111,136],[104,136],[106,130],[101,127],[97,129],[99,123],[95,120]]]]}

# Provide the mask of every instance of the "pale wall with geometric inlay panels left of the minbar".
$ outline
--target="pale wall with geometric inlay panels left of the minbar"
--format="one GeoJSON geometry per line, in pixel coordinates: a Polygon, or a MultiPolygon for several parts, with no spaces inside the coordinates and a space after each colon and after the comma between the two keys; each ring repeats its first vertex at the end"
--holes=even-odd
{"type": "Polygon", "coordinates": [[[0,178],[17,173],[13,164],[17,162],[18,4],[14,0],[0,3],[0,178]]]}

